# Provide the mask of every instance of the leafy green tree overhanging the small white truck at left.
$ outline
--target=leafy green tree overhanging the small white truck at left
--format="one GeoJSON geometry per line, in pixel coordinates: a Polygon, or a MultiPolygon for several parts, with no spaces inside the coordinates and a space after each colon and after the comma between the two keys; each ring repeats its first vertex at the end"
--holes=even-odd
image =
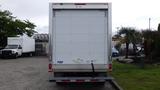
{"type": "Polygon", "coordinates": [[[32,36],[36,31],[36,26],[29,20],[19,20],[12,16],[12,13],[0,10],[0,46],[4,47],[7,37],[27,34],[32,36]]]}

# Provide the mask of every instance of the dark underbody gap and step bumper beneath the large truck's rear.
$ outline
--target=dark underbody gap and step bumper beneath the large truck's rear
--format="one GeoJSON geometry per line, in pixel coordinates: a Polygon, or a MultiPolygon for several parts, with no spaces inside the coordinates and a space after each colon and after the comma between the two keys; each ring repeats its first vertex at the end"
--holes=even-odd
{"type": "Polygon", "coordinates": [[[52,72],[54,82],[105,82],[112,78],[106,72],[52,72]]]}

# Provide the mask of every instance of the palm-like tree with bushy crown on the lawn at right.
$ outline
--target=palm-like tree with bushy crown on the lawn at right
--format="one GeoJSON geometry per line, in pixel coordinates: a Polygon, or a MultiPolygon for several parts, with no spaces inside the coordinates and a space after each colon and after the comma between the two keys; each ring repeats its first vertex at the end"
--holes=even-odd
{"type": "Polygon", "coordinates": [[[126,55],[125,58],[128,58],[129,54],[129,44],[133,44],[133,51],[136,52],[136,43],[139,41],[140,33],[131,27],[122,27],[119,32],[119,35],[123,36],[123,42],[126,44],[126,55]],[[137,37],[138,36],[138,37],[137,37]]]}

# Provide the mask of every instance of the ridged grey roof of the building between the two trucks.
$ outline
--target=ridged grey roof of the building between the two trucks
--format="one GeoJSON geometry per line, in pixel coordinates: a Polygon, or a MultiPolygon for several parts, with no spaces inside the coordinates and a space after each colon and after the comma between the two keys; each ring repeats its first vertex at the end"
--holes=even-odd
{"type": "Polygon", "coordinates": [[[48,34],[34,34],[33,38],[36,42],[48,42],[49,41],[49,35],[48,34]]]}

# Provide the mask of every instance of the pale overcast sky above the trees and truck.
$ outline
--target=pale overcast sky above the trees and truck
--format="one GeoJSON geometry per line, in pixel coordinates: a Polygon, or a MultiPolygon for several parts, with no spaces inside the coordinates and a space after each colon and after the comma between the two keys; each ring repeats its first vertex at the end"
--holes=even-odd
{"type": "Polygon", "coordinates": [[[111,2],[113,33],[120,27],[148,29],[149,18],[151,29],[160,23],[159,0],[0,0],[0,9],[35,23],[39,33],[48,33],[49,2],[111,2]]]}

